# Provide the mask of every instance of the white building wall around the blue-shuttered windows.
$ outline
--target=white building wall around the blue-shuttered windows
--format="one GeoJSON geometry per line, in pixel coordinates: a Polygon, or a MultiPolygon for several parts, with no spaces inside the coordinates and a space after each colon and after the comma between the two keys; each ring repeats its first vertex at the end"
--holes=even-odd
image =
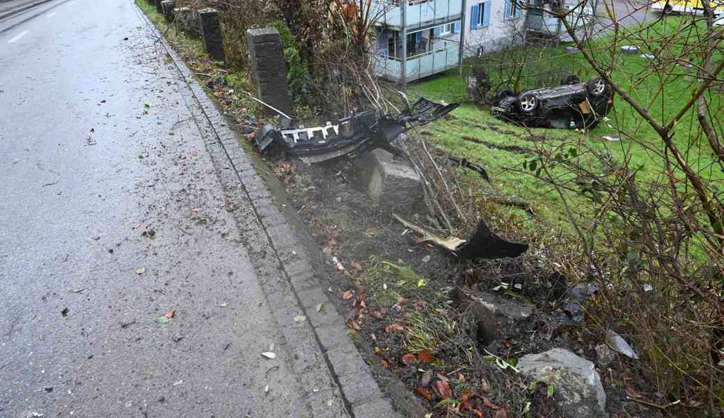
{"type": "Polygon", "coordinates": [[[470,21],[473,18],[473,6],[482,3],[480,0],[468,0],[465,11],[465,55],[466,57],[475,54],[478,46],[483,46],[485,52],[494,51],[510,43],[510,37],[516,31],[523,28],[526,12],[521,11],[521,16],[513,20],[504,20],[505,0],[490,1],[490,22],[485,28],[470,28],[470,21]]]}

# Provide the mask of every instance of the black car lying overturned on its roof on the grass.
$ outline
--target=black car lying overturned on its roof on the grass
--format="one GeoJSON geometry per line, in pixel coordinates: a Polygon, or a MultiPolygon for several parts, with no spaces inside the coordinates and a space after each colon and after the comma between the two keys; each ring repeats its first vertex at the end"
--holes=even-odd
{"type": "Polygon", "coordinates": [[[526,91],[498,93],[491,112],[500,120],[539,128],[594,128],[613,103],[613,94],[602,78],[581,83],[575,75],[563,85],[526,91]]]}

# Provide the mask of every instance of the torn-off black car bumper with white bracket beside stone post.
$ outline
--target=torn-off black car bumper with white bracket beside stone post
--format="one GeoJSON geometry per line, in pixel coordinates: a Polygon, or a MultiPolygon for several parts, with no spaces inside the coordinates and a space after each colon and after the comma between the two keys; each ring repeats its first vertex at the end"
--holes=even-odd
{"type": "Polygon", "coordinates": [[[378,148],[400,155],[401,151],[392,146],[392,141],[401,133],[438,120],[458,106],[420,98],[394,117],[390,113],[371,110],[355,113],[334,125],[327,122],[327,125],[315,128],[279,129],[264,125],[257,131],[255,141],[261,151],[276,144],[308,164],[340,157],[355,159],[378,148]]]}

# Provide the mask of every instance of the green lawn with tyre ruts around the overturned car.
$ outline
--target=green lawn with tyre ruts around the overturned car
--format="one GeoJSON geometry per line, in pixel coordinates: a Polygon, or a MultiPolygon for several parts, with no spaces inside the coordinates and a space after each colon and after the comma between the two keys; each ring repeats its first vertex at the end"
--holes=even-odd
{"type": "MultiPolygon", "coordinates": [[[[679,33],[683,40],[684,37],[696,30],[696,27],[684,27],[688,21],[686,18],[668,17],[665,22],[649,28],[647,33],[652,38],[660,38],[662,34],[675,32],[679,33]]],[[[629,30],[630,33],[634,33],[635,28],[629,30]]],[[[631,43],[637,42],[633,39],[620,39],[617,42],[619,46],[631,43]]],[[[607,50],[610,50],[612,44],[613,39],[610,35],[592,43],[593,49],[597,50],[594,54],[597,62],[608,64],[611,61],[607,50]]],[[[557,49],[550,48],[533,53],[526,51],[526,59],[529,61],[526,61],[526,65],[523,67],[523,77],[539,67],[565,68],[568,72],[577,73],[584,81],[594,77],[591,67],[580,54],[566,54],[564,48],[565,46],[560,46],[557,49]]],[[[662,48],[660,44],[659,48],[662,48]]],[[[673,44],[662,48],[660,54],[672,56],[680,49],[681,45],[673,44]]],[[[692,57],[692,60],[694,59],[696,57],[692,57]]],[[[714,62],[716,63],[720,59],[722,59],[722,54],[715,54],[714,62]]],[[[654,119],[659,122],[668,122],[668,119],[673,117],[675,112],[678,112],[678,109],[691,97],[694,89],[692,85],[696,85],[695,78],[689,75],[695,74],[694,70],[688,67],[672,63],[668,69],[674,74],[660,75],[659,72],[652,70],[649,59],[640,57],[640,53],[617,54],[616,60],[617,64],[612,72],[613,80],[637,101],[644,104],[647,109],[650,109],[654,119]],[[660,80],[663,80],[664,83],[660,83],[660,80]],[[663,88],[660,88],[660,85],[663,88]]],[[[701,59],[698,61],[701,62],[701,59]]],[[[490,70],[489,75],[495,81],[495,71],[490,70]]],[[[528,85],[528,88],[541,87],[541,85],[531,85],[527,78],[521,81],[521,85],[528,85]]],[[[459,74],[458,70],[450,70],[421,83],[409,85],[408,93],[411,97],[425,96],[428,99],[448,102],[464,101],[466,99],[465,78],[459,74]]],[[[722,114],[721,93],[712,93],[712,95],[708,96],[711,100],[712,112],[715,115],[717,112],[722,114]]],[[[536,212],[540,215],[539,220],[544,223],[550,222],[558,225],[563,220],[560,198],[549,186],[534,177],[510,170],[521,169],[523,162],[534,159],[534,154],[526,153],[526,151],[534,150],[542,143],[545,143],[545,146],[556,146],[556,143],[560,143],[564,138],[574,142],[584,143],[585,141],[598,151],[608,151],[617,161],[628,159],[631,163],[629,167],[642,167],[639,179],[643,177],[653,180],[661,175],[660,157],[640,145],[649,144],[654,149],[661,149],[661,139],[619,96],[615,97],[614,109],[608,115],[610,120],[599,124],[597,128],[588,133],[555,129],[532,129],[528,132],[524,128],[495,119],[491,116],[487,106],[469,103],[460,106],[453,112],[453,115],[455,117],[453,120],[429,125],[424,134],[450,154],[464,156],[487,167],[494,180],[494,188],[500,189],[509,196],[522,198],[534,204],[536,212]],[[609,142],[602,139],[604,135],[618,133],[618,130],[623,133],[620,142],[609,142]],[[531,141],[531,134],[539,141],[531,141]],[[632,138],[635,138],[635,141],[632,138]]],[[[722,120],[715,120],[715,122],[724,123],[722,120]]],[[[698,133],[696,114],[692,109],[681,118],[673,138],[681,150],[689,150],[686,155],[694,169],[702,172],[704,177],[722,180],[724,176],[712,164],[710,154],[703,152],[707,149],[706,139],[698,133]],[[699,152],[700,145],[702,145],[701,153],[699,152]]]]}

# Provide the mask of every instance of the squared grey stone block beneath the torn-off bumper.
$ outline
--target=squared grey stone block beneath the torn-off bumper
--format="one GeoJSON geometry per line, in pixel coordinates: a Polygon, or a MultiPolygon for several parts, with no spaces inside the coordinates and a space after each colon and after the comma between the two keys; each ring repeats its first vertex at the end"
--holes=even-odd
{"type": "Polygon", "coordinates": [[[392,154],[375,149],[355,161],[355,169],[375,204],[390,210],[410,212],[423,201],[422,179],[403,161],[392,154]]]}

